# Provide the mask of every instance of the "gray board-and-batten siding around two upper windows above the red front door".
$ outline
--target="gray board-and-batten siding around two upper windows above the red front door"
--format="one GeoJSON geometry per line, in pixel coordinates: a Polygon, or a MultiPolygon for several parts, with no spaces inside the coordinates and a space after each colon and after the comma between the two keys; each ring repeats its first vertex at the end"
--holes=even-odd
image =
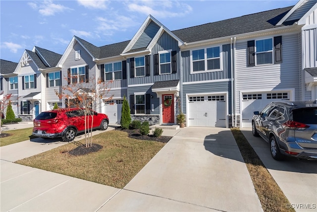
{"type": "Polygon", "coordinates": [[[175,80],[179,79],[180,72],[180,54],[178,42],[175,41],[172,37],[170,37],[167,33],[163,33],[159,38],[157,44],[152,49],[152,55],[150,59],[150,76],[141,76],[130,78],[130,59],[127,60],[127,78],[128,83],[130,84],[146,84],[146,83],[154,83],[156,81],[167,81],[167,80],[175,80]],[[159,51],[163,50],[172,50],[177,51],[177,72],[170,74],[160,74],[154,75],[154,54],[157,54],[159,51]]]}

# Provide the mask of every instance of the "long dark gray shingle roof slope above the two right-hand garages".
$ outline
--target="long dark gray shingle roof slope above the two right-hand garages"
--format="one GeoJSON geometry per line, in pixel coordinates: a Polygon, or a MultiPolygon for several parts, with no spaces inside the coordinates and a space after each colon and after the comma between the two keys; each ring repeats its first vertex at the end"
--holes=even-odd
{"type": "Polygon", "coordinates": [[[284,22],[282,25],[275,26],[275,24],[277,24],[277,22],[286,15],[292,7],[293,6],[273,9],[185,29],[174,30],[172,33],[174,33],[182,41],[190,43],[278,28],[285,25],[291,25],[295,22],[294,20],[292,22],[284,22]]]}

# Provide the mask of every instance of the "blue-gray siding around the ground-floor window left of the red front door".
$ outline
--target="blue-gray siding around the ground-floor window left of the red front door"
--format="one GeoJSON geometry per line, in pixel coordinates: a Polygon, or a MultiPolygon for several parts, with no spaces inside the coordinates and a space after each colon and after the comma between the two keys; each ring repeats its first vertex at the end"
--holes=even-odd
{"type": "Polygon", "coordinates": [[[130,95],[134,95],[134,93],[140,93],[140,92],[149,93],[153,96],[153,98],[150,99],[150,103],[154,104],[154,111],[151,111],[151,114],[158,115],[159,114],[159,97],[157,96],[157,93],[152,92],[152,85],[129,87],[128,97],[127,97],[129,105],[130,105],[130,95]]]}

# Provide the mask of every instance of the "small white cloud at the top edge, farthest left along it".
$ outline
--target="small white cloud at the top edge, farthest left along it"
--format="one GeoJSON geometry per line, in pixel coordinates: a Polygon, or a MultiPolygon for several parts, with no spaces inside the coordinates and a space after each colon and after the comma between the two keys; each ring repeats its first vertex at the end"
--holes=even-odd
{"type": "Polygon", "coordinates": [[[62,4],[53,3],[52,0],[39,1],[38,4],[36,4],[35,2],[29,2],[28,4],[33,9],[38,9],[39,13],[44,16],[55,15],[55,13],[60,13],[65,10],[72,10],[71,8],[63,6],[62,4]]]}

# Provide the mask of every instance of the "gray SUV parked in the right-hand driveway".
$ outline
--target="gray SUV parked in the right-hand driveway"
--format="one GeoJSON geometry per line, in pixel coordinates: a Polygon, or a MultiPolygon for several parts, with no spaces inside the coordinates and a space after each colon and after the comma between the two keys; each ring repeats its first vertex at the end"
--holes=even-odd
{"type": "Polygon", "coordinates": [[[252,133],[269,142],[275,160],[317,159],[317,101],[271,102],[254,112],[252,133]]]}

